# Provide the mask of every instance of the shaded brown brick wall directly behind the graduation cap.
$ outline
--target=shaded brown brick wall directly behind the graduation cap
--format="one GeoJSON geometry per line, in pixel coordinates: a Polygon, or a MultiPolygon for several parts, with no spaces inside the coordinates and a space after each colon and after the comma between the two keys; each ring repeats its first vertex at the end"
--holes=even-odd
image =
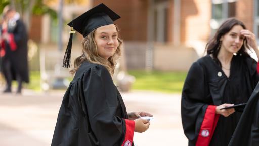
{"type": "Polygon", "coordinates": [[[148,1],[94,0],[93,6],[100,3],[104,3],[121,16],[114,22],[121,30],[120,38],[125,41],[147,41],[148,1]]]}

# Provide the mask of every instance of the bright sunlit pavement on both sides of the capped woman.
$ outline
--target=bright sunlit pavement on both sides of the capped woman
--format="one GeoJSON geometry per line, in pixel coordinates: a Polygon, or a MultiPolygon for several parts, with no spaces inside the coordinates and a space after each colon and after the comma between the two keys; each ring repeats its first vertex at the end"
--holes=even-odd
{"type": "MultiPolygon", "coordinates": [[[[0,93],[0,145],[51,145],[64,92],[0,93]]],[[[135,132],[135,145],[188,145],[181,125],[180,94],[131,91],[122,97],[128,112],[146,111],[154,116],[148,131],[135,132]]]]}

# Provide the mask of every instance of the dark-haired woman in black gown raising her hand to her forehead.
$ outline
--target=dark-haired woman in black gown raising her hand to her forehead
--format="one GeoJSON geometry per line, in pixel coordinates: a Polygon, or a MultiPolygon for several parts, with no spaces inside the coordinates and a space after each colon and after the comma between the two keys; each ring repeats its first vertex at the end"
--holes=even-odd
{"type": "Polygon", "coordinates": [[[257,62],[247,53],[250,48],[259,58],[255,35],[243,22],[230,18],[207,43],[207,55],[192,64],[181,101],[189,145],[230,142],[242,112],[222,108],[247,103],[259,81],[257,62]]]}

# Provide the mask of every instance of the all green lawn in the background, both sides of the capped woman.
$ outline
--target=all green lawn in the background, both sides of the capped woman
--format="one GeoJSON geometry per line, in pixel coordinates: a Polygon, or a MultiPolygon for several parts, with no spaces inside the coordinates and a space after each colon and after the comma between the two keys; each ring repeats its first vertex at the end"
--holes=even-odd
{"type": "MultiPolygon", "coordinates": [[[[181,93],[187,74],[186,72],[146,72],[141,70],[131,70],[128,73],[136,78],[132,89],[166,93],[181,93]]],[[[69,80],[72,80],[72,78],[69,78],[69,80]]],[[[13,82],[13,85],[17,87],[16,82],[13,82]]],[[[40,90],[39,71],[30,72],[30,83],[24,84],[24,87],[36,91],[40,90]]]]}

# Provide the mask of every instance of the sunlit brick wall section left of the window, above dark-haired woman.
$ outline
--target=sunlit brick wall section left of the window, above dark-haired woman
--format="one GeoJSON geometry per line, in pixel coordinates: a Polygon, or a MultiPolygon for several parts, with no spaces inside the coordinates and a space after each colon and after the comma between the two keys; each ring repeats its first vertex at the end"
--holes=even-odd
{"type": "Polygon", "coordinates": [[[181,43],[207,41],[210,34],[211,2],[181,1],[181,43]]]}

